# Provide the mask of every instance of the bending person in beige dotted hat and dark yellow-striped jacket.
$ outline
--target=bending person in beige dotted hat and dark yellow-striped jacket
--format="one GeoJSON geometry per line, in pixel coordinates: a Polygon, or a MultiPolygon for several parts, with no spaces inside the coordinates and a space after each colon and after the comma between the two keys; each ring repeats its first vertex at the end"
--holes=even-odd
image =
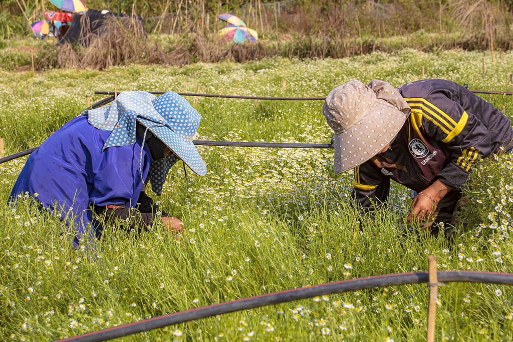
{"type": "Polygon", "coordinates": [[[398,88],[352,80],[329,93],[323,114],[336,133],[334,172],[354,169],[352,198],[360,211],[385,204],[393,179],[418,192],[408,222],[418,219],[436,235],[433,223],[456,224],[460,189],[475,160],[513,148],[506,116],[443,79],[398,88]]]}

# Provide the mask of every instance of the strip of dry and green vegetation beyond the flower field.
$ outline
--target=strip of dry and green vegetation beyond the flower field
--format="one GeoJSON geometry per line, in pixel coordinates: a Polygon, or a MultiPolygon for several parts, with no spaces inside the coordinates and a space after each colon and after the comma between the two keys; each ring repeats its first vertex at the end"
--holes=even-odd
{"type": "Polygon", "coordinates": [[[28,23],[43,19],[45,1],[5,0],[0,4],[0,47],[9,49],[4,69],[28,65],[29,46],[38,69],[96,68],[126,63],[185,65],[194,62],[237,62],[269,56],[341,58],[372,51],[393,52],[405,47],[432,52],[439,49],[498,51],[511,49],[513,13],[510,0],[401,1],[104,1],[87,2],[92,9],[138,14],[147,35],[113,22],[107,34],[88,49],[54,47],[52,42],[22,43],[30,36],[28,23]],[[259,43],[222,43],[217,31],[225,26],[217,16],[239,15],[259,31],[259,43]],[[2,41],[1,39],[4,39],[2,41]],[[120,53],[120,50],[129,50],[120,53]],[[87,57],[86,57],[87,55],[87,57]],[[95,56],[90,58],[90,56],[95,56]],[[98,59],[111,61],[97,63],[98,59]]]}

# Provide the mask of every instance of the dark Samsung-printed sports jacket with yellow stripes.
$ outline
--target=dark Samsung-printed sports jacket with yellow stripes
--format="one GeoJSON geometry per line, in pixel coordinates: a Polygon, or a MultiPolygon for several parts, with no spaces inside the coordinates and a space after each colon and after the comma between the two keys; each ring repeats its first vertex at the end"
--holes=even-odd
{"type": "Polygon", "coordinates": [[[398,88],[411,114],[390,149],[354,169],[363,211],[385,203],[390,180],[417,192],[435,180],[459,189],[478,157],[513,148],[509,119],[457,83],[426,79],[398,88]]]}

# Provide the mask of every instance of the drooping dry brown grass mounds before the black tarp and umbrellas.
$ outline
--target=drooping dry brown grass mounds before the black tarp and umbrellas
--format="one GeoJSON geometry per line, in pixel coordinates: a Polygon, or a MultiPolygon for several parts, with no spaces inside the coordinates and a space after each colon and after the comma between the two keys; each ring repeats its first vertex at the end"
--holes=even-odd
{"type": "MultiPolygon", "coordinates": [[[[83,20],[87,21],[87,16],[83,20]]],[[[103,70],[128,63],[185,65],[222,59],[246,62],[275,54],[262,44],[226,45],[217,34],[202,28],[164,50],[148,39],[134,16],[112,18],[97,33],[89,32],[87,23],[82,27],[86,29],[77,43],[48,48],[36,67],[103,70]]]]}

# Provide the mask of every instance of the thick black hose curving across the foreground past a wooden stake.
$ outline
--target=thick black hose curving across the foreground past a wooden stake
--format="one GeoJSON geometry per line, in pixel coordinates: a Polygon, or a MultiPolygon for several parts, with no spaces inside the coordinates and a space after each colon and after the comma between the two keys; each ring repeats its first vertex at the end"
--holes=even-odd
{"type": "MultiPolygon", "coordinates": [[[[478,272],[478,271],[438,271],[438,281],[449,283],[453,281],[464,281],[468,283],[487,283],[513,285],[513,273],[478,272]]],[[[152,329],[185,323],[194,319],[211,317],[215,315],[259,308],[263,306],[287,303],[289,301],[312,298],[315,296],[343,293],[372,289],[376,287],[387,287],[407,284],[428,283],[428,272],[398,273],[378,275],[373,277],[336,281],[334,283],[315,285],[299,289],[291,289],[281,292],[274,292],[260,296],[248,297],[209,305],[206,307],[176,312],[165,316],[153,317],[140,320],[134,323],[103,329],[83,335],[68,337],[58,342],[96,342],[106,341],[116,337],[128,336],[152,329]]]]}

